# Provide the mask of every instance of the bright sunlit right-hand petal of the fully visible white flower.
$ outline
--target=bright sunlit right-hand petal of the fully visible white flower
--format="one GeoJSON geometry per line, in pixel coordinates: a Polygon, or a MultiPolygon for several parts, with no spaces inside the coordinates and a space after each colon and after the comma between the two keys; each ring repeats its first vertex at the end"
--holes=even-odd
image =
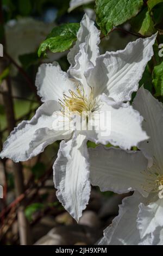
{"type": "Polygon", "coordinates": [[[142,130],[143,118],[133,107],[114,108],[104,103],[99,112],[92,113],[90,123],[95,123],[95,131],[88,131],[87,136],[97,144],[111,143],[122,149],[130,149],[139,142],[148,138],[146,132],[142,130]]]}

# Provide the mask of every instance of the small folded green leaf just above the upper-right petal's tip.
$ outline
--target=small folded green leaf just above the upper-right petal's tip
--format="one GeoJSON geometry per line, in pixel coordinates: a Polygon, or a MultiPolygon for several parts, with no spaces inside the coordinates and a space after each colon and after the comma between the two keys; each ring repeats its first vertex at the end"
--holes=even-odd
{"type": "Polygon", "coordinates": [[[142,35],[152,35],[155,32],[154,23],[148,8],[143,9],[130,21],[132,28],[142,35]]]}

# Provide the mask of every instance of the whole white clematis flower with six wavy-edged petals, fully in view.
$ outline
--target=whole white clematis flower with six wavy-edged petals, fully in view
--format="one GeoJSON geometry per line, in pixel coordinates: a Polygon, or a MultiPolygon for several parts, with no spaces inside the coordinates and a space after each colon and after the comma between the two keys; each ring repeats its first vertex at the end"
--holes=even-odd
{"type": "Polygon", "coordinates": [[[99,33],[84,15],[76,45],[68,53],[71,66],[67,74],[57,63],[40,66],[36,86],[44,103],[31,121],[23,121],[11,132],[0,154],[15,162],[26,161],[48,144],[68,139],[61,142],[54,163],[54,184],[58,199],[76,220],[91,190],[87,140],[130,149],[148,138],[139,112],[123,101],[129,101],[137,90],[153,55],[156,35],[99,56],[99,33]],[[81,115],[84,129],[77,129],[81,115]],[[106,127],[108,118],[110,126],[106,127]],[[102,129],[87,129],[98,119],[102,129]]]}

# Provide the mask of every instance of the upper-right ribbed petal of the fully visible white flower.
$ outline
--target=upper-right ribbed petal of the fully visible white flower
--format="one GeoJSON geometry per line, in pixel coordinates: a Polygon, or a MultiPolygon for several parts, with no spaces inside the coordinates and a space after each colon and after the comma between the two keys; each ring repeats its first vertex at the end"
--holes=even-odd
{"type": "Polygon", "coordinates": [[[156,34],[150,38],[129,42],[124,50],[106,52],[96,60],[96,66],[86,74],[87,83],[96,95],[105,93],[116,102],[129,101],[148,61],[153,56],[156,34]]]}

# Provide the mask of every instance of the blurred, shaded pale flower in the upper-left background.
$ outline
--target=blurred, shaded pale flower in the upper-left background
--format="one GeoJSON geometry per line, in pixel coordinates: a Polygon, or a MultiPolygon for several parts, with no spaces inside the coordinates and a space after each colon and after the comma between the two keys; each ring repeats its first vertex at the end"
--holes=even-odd
{"type": "MultiPolygon", "coordinates": [[[[11,20],[5,25],[5,37],[7,41],[8,54],[19,65],[19,56],[34,53],[39,48],[40,43],[55,27],[55,23],[45,23],[30,17],[11,20]]],[[[48,52],[48,58],[43,62],[53,62],[64,56],[65,53],[48,52]]],[[[12,68],[11,75],[16,75],[17,69],[12,68]]]]}

